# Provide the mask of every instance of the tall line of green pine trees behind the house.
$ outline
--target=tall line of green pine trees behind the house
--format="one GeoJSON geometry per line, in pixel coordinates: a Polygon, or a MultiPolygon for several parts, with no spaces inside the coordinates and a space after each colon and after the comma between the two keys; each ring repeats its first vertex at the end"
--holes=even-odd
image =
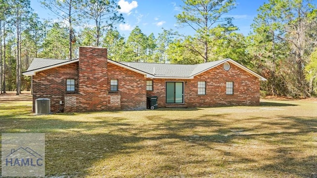
{"type": "Polygon", "coordinates": [[[162,29],[157,37],[136,26],[128,37],[115,0],[43,0],[59,18],[40,20],[29,0],[0,0],[0,90],[30,89],[21,76],[32,59],[75,59],[79,45],[106,47],[115,61],[197,64],[232,58],[268,79],[264,94],[317,95],[317,8],[312,0],[268,0],[248,36],[237,33],[228,12],[235,0],[183,0],[175,15],[185,36],[162,29]]]}

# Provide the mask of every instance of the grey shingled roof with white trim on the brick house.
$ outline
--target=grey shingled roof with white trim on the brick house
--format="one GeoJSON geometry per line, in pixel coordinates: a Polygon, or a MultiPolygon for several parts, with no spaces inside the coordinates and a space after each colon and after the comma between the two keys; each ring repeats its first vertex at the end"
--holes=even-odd
{"type": "MultiPolygon", "coordinates": [[[[78,62],[79,59],[62,60],[62,59],[44,59],[34,58],[27,71],[23,75],[33,76],[36,72],[47,70],[50,68],[78,62]]],[[[201,74],[215,66],[225,62],[231,62],[246,72],[256,76],[259,80],[266,80],[264,77],[253,72],[238,62],[227,58],[218,61],[207,62],[203,64],[184,65],[184,64],[161,64],[161,63],[144,63],[144,62],[116,62],[108,59],[109,63],[119,65],[121,67],[133,70],[135,72],[146,75],[148,78],[168,78],[168,79],[193,79],[194,76],[201,74]]]]}

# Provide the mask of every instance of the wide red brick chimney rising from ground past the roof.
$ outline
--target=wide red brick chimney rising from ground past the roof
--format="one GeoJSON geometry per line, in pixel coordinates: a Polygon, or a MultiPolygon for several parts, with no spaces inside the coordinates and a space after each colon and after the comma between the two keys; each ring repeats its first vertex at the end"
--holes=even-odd
{"type": "Polygon", "coordinates": [[[79,112],[107,110],[107,49],[79,47],[79,112]]]}

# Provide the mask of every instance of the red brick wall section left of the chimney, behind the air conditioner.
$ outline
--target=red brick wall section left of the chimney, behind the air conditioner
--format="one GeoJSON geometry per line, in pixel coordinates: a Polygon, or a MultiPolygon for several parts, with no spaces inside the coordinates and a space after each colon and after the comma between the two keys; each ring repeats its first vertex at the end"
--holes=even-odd
{"type": "MultiPolygon", "coordinates": [[[[36,99],[49,98],[51,99],[51,112],[57,112],[59,101],[64,103],[67,79],[75,79],[75,92],[78,92],[78,62],[37,72],[32,79],[32,111],[35,112],[36,99]]],[[[63,108],[64,105],[61,105],[61,109],[63,108]]]]}

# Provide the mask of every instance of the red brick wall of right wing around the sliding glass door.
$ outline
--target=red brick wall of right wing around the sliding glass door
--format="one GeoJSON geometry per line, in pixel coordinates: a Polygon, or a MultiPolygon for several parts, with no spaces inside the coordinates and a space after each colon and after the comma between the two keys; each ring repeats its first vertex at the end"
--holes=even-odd
{"type": "Polygon", "coordinates": [[[259,105],[260,81],[257,77],[230,63],[230,70],[222,65],[197,75],[192,80],[154,79],[153,91],[147,95],[157,95],[159,107],[166,104],[166,81],[184,82],[184,102],[189,107],[208,107],[218,105],[259,105]],[[206,95],[198,95],[198,81],[206,82],[206,95]],[[226,82],[233,82],[233,95],[226,94],[226,82]]]}

